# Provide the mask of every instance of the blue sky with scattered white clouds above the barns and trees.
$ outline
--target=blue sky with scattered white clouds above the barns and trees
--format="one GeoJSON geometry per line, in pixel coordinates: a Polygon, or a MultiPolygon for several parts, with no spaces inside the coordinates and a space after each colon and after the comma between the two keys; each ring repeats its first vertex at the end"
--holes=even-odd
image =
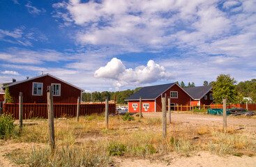
{"type": "Polygon", "coordinates": [[[0,83],[86,91],[256,78],[256,1],[0,1],[0,83]]]}

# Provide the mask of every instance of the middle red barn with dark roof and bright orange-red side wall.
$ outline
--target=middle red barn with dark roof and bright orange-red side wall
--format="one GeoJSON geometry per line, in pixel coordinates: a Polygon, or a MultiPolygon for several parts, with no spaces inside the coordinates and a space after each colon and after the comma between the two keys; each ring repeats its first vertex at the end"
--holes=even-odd
{"type": "Polygon", "coordinates": [[[140,111],[140,97],[142,97],[142,112],[162,111],[161,95],[165,95],[165,93],[171,99],[171,106],[190,106],[190,102],[193,100],[193,97],[176,83],[146,86],[126,99],[128,112],[140,111]]]}

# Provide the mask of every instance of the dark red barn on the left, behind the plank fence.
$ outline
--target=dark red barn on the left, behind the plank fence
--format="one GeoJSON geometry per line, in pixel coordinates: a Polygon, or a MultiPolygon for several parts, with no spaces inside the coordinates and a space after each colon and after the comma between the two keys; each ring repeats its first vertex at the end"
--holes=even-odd
{"type": "Polygon", "coordinates": [[[38,77],[15,81],[3,86],[9,88],[13,102],[19,102],[19,95],[22,92],[24,103],[47,103],[47,86],[52,86],[53,101],[55,104],[75,104],[77,97],[81,98],[84,91],[77,86],[73,86],[51,74],[42,74],[38,77]]]}

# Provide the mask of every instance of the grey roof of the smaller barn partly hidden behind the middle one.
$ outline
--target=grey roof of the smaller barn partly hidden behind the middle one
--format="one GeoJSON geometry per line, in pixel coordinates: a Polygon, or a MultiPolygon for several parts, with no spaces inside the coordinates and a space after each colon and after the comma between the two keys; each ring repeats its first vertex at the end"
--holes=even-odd
{"type": "Polygon", "coordinates": [[[204,95],[209,93],[209,91],[213,88],[213,86],[196,86],[191,88],[183,88],[193,99],[200,100],[204,95]]]}

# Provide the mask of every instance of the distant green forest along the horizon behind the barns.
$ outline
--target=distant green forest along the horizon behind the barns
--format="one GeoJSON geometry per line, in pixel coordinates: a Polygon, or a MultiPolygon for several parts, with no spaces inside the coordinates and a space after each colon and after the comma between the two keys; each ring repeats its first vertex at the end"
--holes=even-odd
{"type": "MultiPolygon", "coordinates": [[[[195,87],[194,82],[186,86],[183,81],[181,81],[181,84],[179,84],[178,81],[176,81],[176,84],[181,86],[181,88],[187,88],[187,87],[195,87]]],[[[208,81],[204,81],[203,85],[212,85],[213,81],[210,83],[208,81]]],[[[108,91],[103,91],[102,93],[100,92],[93,92],[92,95],[91,93],[82,93],[82,101],[84,102],[103,102],[105,101],[105,98],[108,97],[109,100],[114,100],[114,95],[116,95],[116,103],[117,104],[127,104],[125,101],[127,97],[130,95],[133,95],[133,93],[137,92],[137,90],[140,90],[142,87],[135,88],[135,90],[123,90],[123,91],[116,91],[116,92],[108,92],[108,91]],[[92,99],[91,99],[92,97],[92,99]]],[[[239,84],[236,85],[236,89],[241,95],[241,97],[251,97],[253,102],[256,102],[256,79],[252,79],[251,81],[241,81],[239,84]]],[[[243,101],[242,101],[243,103],[243,101]]]]}

